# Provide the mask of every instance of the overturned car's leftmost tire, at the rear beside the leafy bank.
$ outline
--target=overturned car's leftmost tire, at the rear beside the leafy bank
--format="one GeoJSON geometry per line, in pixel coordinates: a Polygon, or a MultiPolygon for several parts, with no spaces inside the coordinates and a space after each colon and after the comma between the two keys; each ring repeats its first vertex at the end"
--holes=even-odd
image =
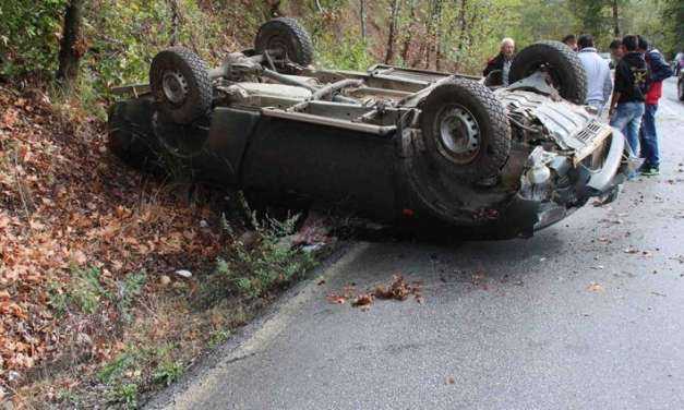
{"type": "Polygon", "coordinates": [[[212,80],[206,63],[183,47],[171,47],[152,60],[149,87],[157,108],[179,124],[188,124],[212,108],[212,80]]]}

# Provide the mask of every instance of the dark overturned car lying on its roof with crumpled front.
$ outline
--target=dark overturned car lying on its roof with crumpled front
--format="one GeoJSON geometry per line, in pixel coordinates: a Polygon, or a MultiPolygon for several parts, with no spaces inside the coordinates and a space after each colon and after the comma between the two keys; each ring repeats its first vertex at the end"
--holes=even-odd
{"type": "Polygon", "coordinates": [[[276,204],[496,238],[612,201],[635,167],[623,135],[581,105],[585,72],[561,43],[521,50],[505,87],[383,64],[317,70],[312,56],[284,17],[216,69],[164,50],[149,84],[118,89],[133,98],[110,108],[110,149],[144,167],[172,158],[276,204]]]}

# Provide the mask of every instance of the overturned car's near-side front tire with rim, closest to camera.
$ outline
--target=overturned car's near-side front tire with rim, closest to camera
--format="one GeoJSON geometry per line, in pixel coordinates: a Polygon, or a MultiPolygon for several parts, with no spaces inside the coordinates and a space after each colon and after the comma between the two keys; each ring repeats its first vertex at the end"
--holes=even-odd
{"type": "Polygon", "coordinates": [[[440,84],[421,102],[425,149],[465,182],[496,177],[511,152],[511,125],[502,104],[467,79],[440,84]]]}

